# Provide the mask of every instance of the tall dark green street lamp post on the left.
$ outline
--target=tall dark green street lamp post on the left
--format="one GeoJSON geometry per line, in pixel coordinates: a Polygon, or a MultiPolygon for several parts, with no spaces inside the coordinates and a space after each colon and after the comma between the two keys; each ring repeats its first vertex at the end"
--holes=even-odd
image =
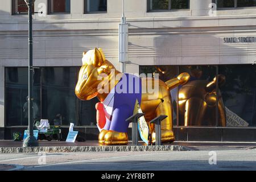
{"type": "Polygon", "coordinates": [[[28,134],[23,141],[23,147],[37,147],[38,140],[34,137],[33,122],[33,42],[32,42],[32,5],[35,0],[24,0],[28,7],[28,134]]]}

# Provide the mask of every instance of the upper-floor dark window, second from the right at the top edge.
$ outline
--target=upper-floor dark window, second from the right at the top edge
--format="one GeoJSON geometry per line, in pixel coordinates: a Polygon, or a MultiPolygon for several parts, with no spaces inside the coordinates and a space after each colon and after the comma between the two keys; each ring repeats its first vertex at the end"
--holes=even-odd
{"type": "Polygon", "coordinates": [[[189,9],[189,0],[148,0],[147,9],[148,11],[189,9]]]}

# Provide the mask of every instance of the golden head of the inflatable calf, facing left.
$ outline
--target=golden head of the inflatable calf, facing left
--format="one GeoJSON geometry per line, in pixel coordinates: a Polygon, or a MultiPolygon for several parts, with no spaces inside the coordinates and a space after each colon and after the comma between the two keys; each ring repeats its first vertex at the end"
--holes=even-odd
{"type": "Polygon", "coordinates": [[[90,100],[98,95],[98,76],[105,73],[110,75],[110,70],[114,69],[113,64],[105,59],[101,49],[92,49],[82,54],[82,67],[79,72],[75,93],[80,100],[90,100]]]}

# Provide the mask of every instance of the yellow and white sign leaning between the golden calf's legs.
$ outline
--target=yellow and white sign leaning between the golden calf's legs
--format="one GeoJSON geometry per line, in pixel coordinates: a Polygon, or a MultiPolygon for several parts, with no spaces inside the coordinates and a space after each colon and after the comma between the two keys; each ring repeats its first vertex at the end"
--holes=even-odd
{"type": "MultiPolygon", "coordinates": [[[[141,106],[139,105],[138,100],[135,103],[134,111],[133,113],[142,113],[141,106]]],[[[149,134],[149,128],[147,126],[146,119],[144,116],[140,117],[138,119],[138,130],[139,130],[139,135],[141,136],[141,139],[143,142],[145,142],[148,145],[148,134],[149,134]]]]}

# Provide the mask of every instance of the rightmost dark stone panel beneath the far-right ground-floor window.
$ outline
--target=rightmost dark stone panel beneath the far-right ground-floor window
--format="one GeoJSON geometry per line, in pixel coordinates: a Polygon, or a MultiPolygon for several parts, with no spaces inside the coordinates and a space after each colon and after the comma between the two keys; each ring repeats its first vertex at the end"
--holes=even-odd
{"type": "Polygon", "coordinates": [[[223,128],[223,142],[256,142],[256,129],[223,128]]]}

